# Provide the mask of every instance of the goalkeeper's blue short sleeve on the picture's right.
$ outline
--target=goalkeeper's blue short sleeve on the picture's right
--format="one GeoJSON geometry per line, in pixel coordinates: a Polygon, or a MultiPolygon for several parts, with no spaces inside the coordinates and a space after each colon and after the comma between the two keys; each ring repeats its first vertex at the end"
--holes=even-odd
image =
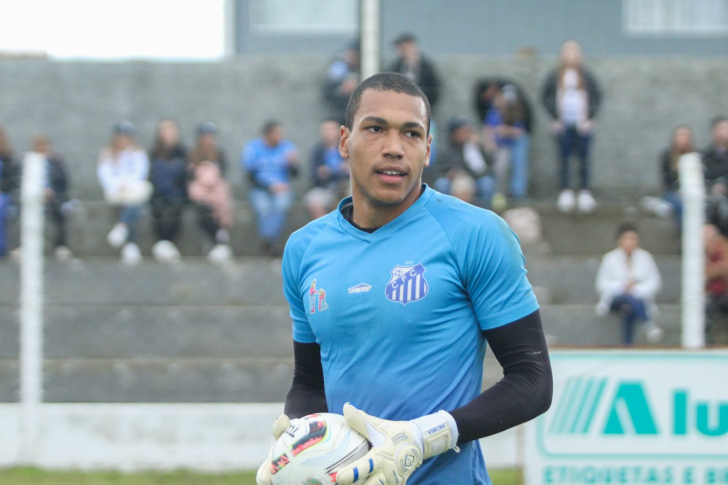
{"type": "Polygon", "coordinates": [[[515,322],[536,310],[518,238],[503,219],[486,213],[470,231],[462,271],[483,330],[515,322]]]}

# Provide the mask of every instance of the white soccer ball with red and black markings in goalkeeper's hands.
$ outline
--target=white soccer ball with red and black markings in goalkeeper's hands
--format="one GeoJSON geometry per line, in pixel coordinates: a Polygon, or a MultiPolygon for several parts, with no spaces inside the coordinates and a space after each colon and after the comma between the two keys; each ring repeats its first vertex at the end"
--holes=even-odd
{"type": "Polygon", "coordinates": [[[336,472],[369,451],[369,442],[339,414],[310,414],[292,419],[273,443],[273,485],[336,483],[336,472]]]}

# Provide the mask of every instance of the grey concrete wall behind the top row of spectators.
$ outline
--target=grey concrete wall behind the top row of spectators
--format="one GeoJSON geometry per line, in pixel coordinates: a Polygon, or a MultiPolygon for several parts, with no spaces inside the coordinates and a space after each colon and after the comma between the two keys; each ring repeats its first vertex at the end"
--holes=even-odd
{"type": "MultiPolygon", "coordinates": [[[[458,55],[436,56],[444,94],[435,119],[443,140],[446,120],[467,114],[475,120],[477,79],[504,76],[524,87],[535,106],[531,184],[535,195],[557,190],[556,149],[548,118],[538,102],[552,60],[458,55]]],[[[0,61],[0,123],[16,151],[34,133],[50,135],[66,156],[73,195],[100,199],[96,181],[99,149],[113,124],[128,119],[139,142],[148,147],[156,123],[176,119],[187,144],[195,126],[211,120],[230,158],[229,178],[243,198],[238,154],[258,136],[263,122],[284,123],[303,159],[316,140],[317,123],[326,115],[320,84],[328,57],[250,56],[221,63],[82,63],[45,60],[0,61]]],[[[708,123],[728,113],[725,80],[728,64],[715,58],[604,58],[589,62],[604,91],[593,145],[593,185],[597,195],[615,197],[659,190],[657,156],[677,124],[708,141],[708,123]]],[[[304,174],[307,172],[304,172],[304,174]]],[[[299,194],[305,177],[298,182],[299,194]]]]}

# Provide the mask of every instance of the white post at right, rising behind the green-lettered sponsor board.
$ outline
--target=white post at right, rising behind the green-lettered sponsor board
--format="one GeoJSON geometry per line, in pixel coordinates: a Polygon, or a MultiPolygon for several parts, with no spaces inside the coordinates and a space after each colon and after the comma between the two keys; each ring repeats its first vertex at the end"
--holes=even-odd
{"type": "Polygon", "coordinates": [[[682,346],[705,347],[705,182],[700,155],[680,158],[682,222],[682,346]]]}

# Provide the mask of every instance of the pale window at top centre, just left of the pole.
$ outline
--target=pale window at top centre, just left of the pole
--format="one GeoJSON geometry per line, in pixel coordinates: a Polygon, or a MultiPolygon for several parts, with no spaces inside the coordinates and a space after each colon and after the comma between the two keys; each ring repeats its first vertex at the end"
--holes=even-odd
{"type": "Polygon", "coordinates": [[[354,33],[358,0],[251,0],[254,30],[271,33],[354,33]]]}

